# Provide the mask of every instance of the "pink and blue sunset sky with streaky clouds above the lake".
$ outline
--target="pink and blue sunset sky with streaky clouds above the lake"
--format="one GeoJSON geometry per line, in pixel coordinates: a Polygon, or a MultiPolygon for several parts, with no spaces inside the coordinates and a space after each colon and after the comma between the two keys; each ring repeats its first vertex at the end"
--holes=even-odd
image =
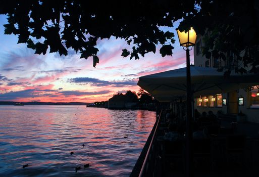
{"type": "MultiPolygon", "coordinates": [[[[68,51],[68,56],[58,53],[34,54],[26,44],[17,44],[18,36],[5,35],[6,16],[0,16],[0,101],[17,102],[95,102],[106,101],[114,94],[127,90],[138,92],[138,78],[143,75],[185,67],[185,51],[178,39],[173,45],[173,56],[161,57],[149,53],[139,60],[123,58],[122,49],[129,49],[126,41],[111,37],[98,40],[96,68],[92,58],[80,59],[80,54],[68,51]]],[[[174,28],[161,27],[173,31],[174,28]]],[[[191,51],[193,63],[193,50],[191,51]]]]}

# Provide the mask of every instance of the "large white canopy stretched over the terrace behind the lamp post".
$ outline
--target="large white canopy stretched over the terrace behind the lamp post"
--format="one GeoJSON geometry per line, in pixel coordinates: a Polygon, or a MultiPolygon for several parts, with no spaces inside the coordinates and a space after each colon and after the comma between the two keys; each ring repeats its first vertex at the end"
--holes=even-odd
{"type": "MultiPolygon", "coordinates": [[[[259,84],[258,74],[231,73],[224,76],[216,68],[191,66],[191,83],[194,97],[227,93],[259,84]]],[[[139,78],[137,83],[159,101],[171,101],[186,95],[186,68],[180,68],[139,78]]]]}

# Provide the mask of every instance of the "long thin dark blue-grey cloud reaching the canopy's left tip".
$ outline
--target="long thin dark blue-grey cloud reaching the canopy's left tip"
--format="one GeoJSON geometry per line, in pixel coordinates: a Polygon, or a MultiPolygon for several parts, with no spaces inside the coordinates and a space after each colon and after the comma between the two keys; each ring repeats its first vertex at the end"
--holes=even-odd
{"type": "Polygon", "coordinates": [[[79,84],[91,84],[93,86],[123,86],[123,85],[136,85],[137,82],[135,80],[123,80],[123,81],[106,81],[106,80],[100,80],[97,78],[91,78],[91,77],[76,77],[69,79],[69,82],[79,83],[79,84]]]}

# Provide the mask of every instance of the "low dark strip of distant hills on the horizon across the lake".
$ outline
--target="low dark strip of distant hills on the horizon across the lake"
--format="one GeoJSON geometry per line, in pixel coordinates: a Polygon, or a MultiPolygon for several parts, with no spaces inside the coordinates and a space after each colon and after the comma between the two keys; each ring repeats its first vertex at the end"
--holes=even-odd
{"type": "MultiPolygon", "coordinates": [[[[0,101],[0,105],[14,105],[17,102],[0,101]]],[[[83,102],[21,102],[24,105],[88,105],[89,103],[83,102]]]]}

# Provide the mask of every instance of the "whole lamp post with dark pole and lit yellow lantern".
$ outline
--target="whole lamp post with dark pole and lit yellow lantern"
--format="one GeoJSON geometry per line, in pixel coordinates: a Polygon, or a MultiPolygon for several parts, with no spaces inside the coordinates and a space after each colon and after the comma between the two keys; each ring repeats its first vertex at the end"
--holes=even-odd
{"type": "Polygon", "coordinates": [[[177,29],[177,35],[179,38],[180,46],[183,47],[183,50],[186,51],[186,106],[187,106],[187,117],[186,117],[186,176],[192,175],[192,161],[193,161],[193,153],[192,153],[192,131],[190,127],[190,120],[192,120],[192,90],[191,90],[191,71],[190,71],[190,50],[195,45],[196,41],[196,32],[193,28],[190,28],[187,32],[180,32],[177,29]]]}

